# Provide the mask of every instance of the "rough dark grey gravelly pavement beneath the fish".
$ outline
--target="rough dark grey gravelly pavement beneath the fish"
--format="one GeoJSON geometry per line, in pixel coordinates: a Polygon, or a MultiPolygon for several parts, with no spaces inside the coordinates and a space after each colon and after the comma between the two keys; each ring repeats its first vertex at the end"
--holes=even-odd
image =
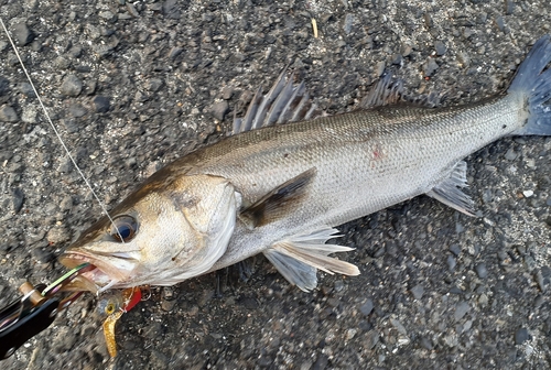
{"type": "MultiPolygon", "coordinates": [[[[468,104],[507,87],[550,14],[543,0],[0,0],[108,207],[225,137],[240,99],[288,63],[328,113],[385,69],[468,104]]],[[[258,257],[247,281],[228,269],[152,289],[118,323],[115,361],[87,295],[1,367],[550,369],[551,139],[504,139],[467,163],[483,217],[422,196],[344,225],[359,276],[321,274],[303,293],[258,257]]],[[[0,306],[60,275],[55,258],[99,217],[1,34],[0,306]]]]}

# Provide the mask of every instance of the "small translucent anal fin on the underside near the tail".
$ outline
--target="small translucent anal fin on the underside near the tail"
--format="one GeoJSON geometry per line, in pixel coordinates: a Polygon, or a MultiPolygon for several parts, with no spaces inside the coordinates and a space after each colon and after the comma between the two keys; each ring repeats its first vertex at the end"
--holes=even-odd
{"type": "Polygon", "coordinates": [[[460,188],[468,186],[466,173],[466,162],[457,162],[450,173],[450,177],[446,177],[442,183],[434,186],[426,195],[467,216],[475,217],[475,203],[460,188]]]}

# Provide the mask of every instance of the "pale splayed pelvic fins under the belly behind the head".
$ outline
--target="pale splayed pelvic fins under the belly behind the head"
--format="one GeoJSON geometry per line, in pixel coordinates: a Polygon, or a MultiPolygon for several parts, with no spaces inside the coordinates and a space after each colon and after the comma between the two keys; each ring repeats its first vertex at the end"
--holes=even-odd
{"type": "Polygon", "coordinates": [[[282,240],[266,250],[264,255],[291,284],[309,292],[317,285],[317,269],[329,274],[359,274],[354,264],[327,255],[353,250],[349,247],[325,244],[328,239],[338,237],[337,232],[333,228],[322,228],[282,240]]]}

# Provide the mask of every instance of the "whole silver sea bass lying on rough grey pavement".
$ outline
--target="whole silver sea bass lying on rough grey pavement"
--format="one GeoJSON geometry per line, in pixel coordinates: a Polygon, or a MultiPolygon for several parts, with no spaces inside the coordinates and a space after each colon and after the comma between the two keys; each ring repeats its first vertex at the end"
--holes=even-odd
{"type": "MultiPolygon", "coordinates": [[[[61,262],[94,264],[80,289],[101,291],[172,285],[257,253],[304,291],[317,270],[356,275],[328,255],[350,250],[326,243],[335,227],[421,194],[473,215],[463,159],[499,138],[551,135],[550,61],[547,35],[505,94],[462,107],[398,104],[309,119],[303,85],[277,84],[236,121],[239,133],[153,174],[61,262]]],[[[371,101],[391,100],[396,86],[379,85],[371,101]]]]}

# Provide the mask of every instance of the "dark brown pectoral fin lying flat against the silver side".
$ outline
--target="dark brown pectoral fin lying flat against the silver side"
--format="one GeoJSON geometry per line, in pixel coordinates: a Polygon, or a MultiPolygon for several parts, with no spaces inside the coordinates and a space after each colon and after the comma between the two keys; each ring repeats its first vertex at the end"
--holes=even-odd
{"type": "Polygon", "coordinates": [[[307,185],[315,174],[316,170],[312,167],[281,184],[255,204],[241,210],[239,219],[249,229],[253,229],[289,215],[306,194],[307,185]]]}

